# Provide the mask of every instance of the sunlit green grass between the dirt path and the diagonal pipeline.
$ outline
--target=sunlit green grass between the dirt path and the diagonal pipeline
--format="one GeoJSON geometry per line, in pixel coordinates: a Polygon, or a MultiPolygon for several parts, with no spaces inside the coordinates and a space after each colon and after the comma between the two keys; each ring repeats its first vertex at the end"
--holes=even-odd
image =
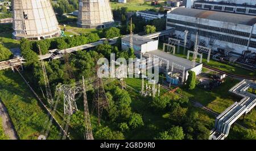
{"type": "MultiPolygon", "coordinates": [[[[5,104],[19,139],[38,139],[46,112],[18,73],[0,72],[0,99],[5,104]]],[[[52,125],[48,139],[56,139],[59,129],[52,125]]]]}

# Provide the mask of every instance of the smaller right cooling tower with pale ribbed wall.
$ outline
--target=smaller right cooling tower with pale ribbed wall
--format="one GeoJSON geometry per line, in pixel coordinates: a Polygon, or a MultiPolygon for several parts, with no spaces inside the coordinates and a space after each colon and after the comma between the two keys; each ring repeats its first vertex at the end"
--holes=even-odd
{"type": "Polygon", "coordinates": [[[113,24],[109,0],[80,0],[77,24],[82,28],[104,28],[113,24]]]}

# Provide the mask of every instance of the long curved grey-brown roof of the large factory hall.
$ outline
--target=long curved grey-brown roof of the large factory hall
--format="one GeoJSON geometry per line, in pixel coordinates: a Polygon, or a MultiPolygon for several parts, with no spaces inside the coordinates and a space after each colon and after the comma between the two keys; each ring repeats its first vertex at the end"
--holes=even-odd
{"type": "Polygon", "coordinates": [[[187,9],[179,7],[170,12],[170,14],[191,16],[195,18],[204,18],[209,20],[217,20],[220,22],[229,22],[234,24],[244,24],[252,26],[256,23],[256,16],[233,14],[229,12],[187,9]]]}

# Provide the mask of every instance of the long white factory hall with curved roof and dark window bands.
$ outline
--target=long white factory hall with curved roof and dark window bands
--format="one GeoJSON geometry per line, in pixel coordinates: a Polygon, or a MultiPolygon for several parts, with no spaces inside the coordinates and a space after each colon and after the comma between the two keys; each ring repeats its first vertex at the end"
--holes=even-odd
{"type": "Polygon", "coordinates": [[[177,8],[167,14],[166,29],[175,28],[175,36],[184,38],[188,30],[188,41],[226,55],[240,56],[244,51],[256,52],[256,16],[228,12],[177,8]]]}

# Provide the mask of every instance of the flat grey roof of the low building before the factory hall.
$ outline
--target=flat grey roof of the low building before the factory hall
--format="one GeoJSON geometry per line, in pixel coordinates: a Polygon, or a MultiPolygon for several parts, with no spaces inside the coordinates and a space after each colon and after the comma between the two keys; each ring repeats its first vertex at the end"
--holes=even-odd
{"type": "MultiPolygon", "coordinates": [[[[159,56],[159,57],[162,57],[162,58],[168,60],[170,63],[170,66],[172,65],[172,62],[174,62],[175,64],[184,66],[185,70],[189,70],[192,68],[192,61],[187,60],[185,58],[177,57],[170,53],[166,53],[166,52],[163,52],[160,50],[150,51],[147,53],[150,53],[151,55],[156,55],[156,56],[159,56]]],[[[196,66],[198,66],[198,65],[200,65],[200,64],[196,62],[196,66]]]]}

